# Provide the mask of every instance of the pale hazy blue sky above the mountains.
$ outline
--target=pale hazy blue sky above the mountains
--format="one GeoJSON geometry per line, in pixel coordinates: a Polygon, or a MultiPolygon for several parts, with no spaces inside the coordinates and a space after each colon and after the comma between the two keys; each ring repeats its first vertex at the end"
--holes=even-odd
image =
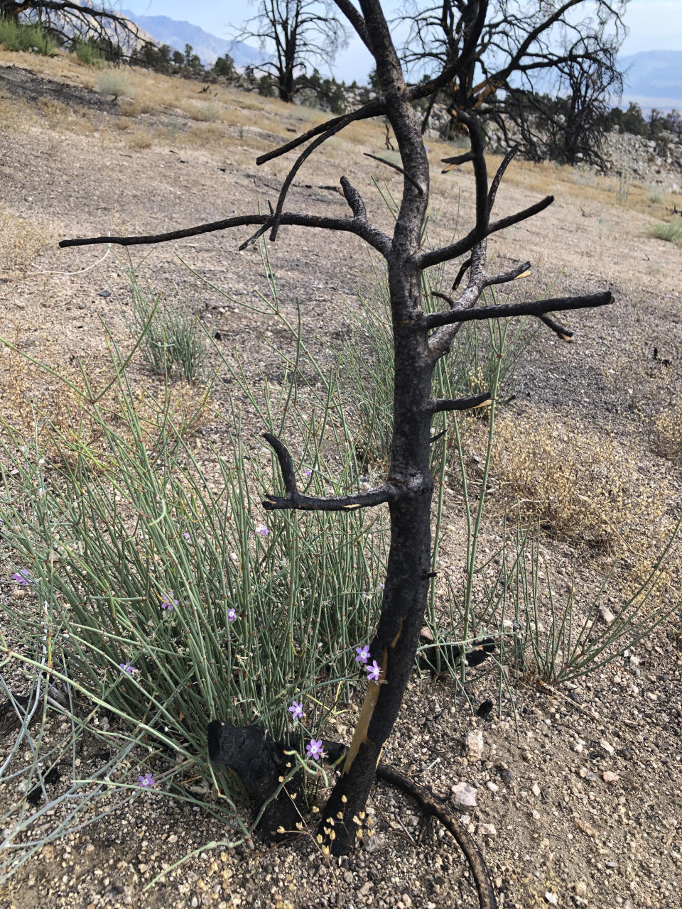
{"type": "MultiPolygon", "coordinates": [[[[242,25],[254,15],[252,0],[120,0],[120,5],[138,15],[168,15],[200,25],[213,35],[229,38],[230,25],[242,25]]],[[[401,4],[386,0],[384,8],[391,14],[401,4]]],[[[630,0],[627,4],[626,25],[629,35],[622,54],[638,51],[682,50],[682,0],[630,0]]],[[[362,81],[373,62],[359,39],[351,41],[336,60],[338,79],[362,81]]]]}

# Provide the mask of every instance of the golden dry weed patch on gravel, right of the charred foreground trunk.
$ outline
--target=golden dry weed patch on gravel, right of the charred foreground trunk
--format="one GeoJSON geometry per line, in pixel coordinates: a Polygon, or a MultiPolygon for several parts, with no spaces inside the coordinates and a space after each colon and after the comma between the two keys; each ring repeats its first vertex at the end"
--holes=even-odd
{"type": "Polygon", "coordinates": [[[522,520],[638,562],[667,531],[667,489],[608,435],[550,415],[507,416],[496,428],[493,470],[522,520]]]}

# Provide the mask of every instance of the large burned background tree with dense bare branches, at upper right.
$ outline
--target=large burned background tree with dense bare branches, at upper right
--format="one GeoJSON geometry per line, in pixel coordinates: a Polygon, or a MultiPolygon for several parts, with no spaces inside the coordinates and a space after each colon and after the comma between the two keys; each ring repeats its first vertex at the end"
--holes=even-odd
{"type": "MultiPolygon", "coordinates": [[[[439,99],[453,112],[476,109],[484,124],[495,121],[508,147],[518,144],[536,161],[600,164],[607,101],[623,88],[616,55],[625,37],[625,5],[492,0],[476,47],[465,54],[476,33],[477,3],[408,0],[403,18],[410,32],[402,55],[415,75],[440,73],[460,61],[439,99]]],[[[435,100],[431,95],[430,105],[435,100]]],[[[456,113],[452,127],[458,128],[456,113]]]]}

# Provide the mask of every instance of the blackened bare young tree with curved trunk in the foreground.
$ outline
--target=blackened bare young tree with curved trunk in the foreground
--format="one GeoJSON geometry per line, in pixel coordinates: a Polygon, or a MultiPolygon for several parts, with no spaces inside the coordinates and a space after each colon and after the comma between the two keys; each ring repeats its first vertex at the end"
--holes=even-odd
{"type": "MultiPolygon", "coordinates": [[[[529,205],[513,215],[494,219],[493,210],[497,189],[510,164],[510,151],[488,181],[484,139],[478,119],[471,110],[453,106],[457,122],[469,136],[470,150],[450,165],[471,162],[476,177],[476,210],[472,224],[461,239],[437,249],[422,248],[423,228],[429,196],[429,170],[426,149],[419,129],[415,103],[440,88],[459,86],[466,101],[476,95],[474,72],[477,49],[485,33],[489,5],[486,0],[469,4],[476,15],[466,28],[465,39],[457,60],[446,66],[440,75],[420,85],[408,86],[398,59],[379,0],[360,0],[362,13],[350,0],[336,0],[336,5],[349,19],[366,47],[376,60],[379,94],[366,105],[347,115],[334,117],[316,126],[286,145],[261,155],[256,163],[285,155],[301,146],[295,163],[286,175],[274,208],[267,215],[236,215],[212,224],[197,225],[160,235],[136,237],[100,236],[67,240],[60,245],[115,243],[137,245],[160,243],[208,231],[230,227],[257,225],[254,235],[241,248],[252,245],[269,231],[275,241],[279,231],[289,225],[345,231],[361,237],[386,260],[393,325],[395,361],[394,422],[391,461],[384,483],[361,494],[337,498],[319,498],[298,490],[296,467],[283,440],[266,435],[273,448],[283,478],[283,490],[268,495],[264,502],[270,511],[293,509],[304,511],[344,512],[386,504],[390,514],[390,550],[386,568],[386,584],[376,634],[369,645],[370,659],[376,663],[376,679],[367,684],[365,702],[360,711],[353,739],[347,749],[327,744],[327,751],[341,761],[340,774],[323,810],[318,828],[320,842],[333,854],[345,854],[353,846],[359,824],[364,816],[369,790],[378,772],[400,783],[400,774],[379,764],[382,748],[391,733],[406,691],[406,684],[415,664],[419,634],[424,622],[426,599],[433,573],[431,571],[431,520],[434,478],[429,467],[432,443],[431,423],[434,415],[461,411],[485,403],[490,395],[463,399],[441,399],[432,395],[434,369],[456,343],[459,327],[466,321],[496,317],[534,315],[564,340],[572,333],[560,325],[553,311],[567,311],[612,302],[609,293],[568,296],[530,303],[478,306],[486,287],[506,284],[527,274],[530,263],[502,274],[486,270],[486,240],[490,235],[510,225],[516,225],[537,215],[551,205],[552,196],[529,205]],[[306,215],[286,211],[286,197],[293,180],[306,159],[320,145],[337,135],[346,125],[370,117],[386,116],[395,135],[402,159],[399,168],[404,175],[403,193],[392,235],[386,234],[370,221],[365,201],[345,176],[341,188],[351,214],[347,217],[306,215]],[[438,302],[426,307],[422,297],[422,273],[432,265],[456,263],[456,287],[467,274],[464,290],[452,297],[438,296],[438,302]],[[391,775],[393,774],[393,775],[391,775]]],[[[265,768],[253,788],[262,796],[275,793],[283,767],[287,743],[273,742],[266,730],[253,730],[248,736],[254,748],[244,766],[243,730],[216,720],[209,727],[209,754],[218,761],[242,766],[245,774],[254,767],[265,768]],[[269,775],[270,779],[264,779],[269,775]]],[[[446,812],[426,790],[402,778],[402,783],[414,794],[426,810],[439,817],[446,812]],[[430,801],[429,801],[430,800],[430,801]]],[[[296,794],[295,792],[293,794],[296,794]]],[[[281,795],[281,793],[280,793],[281,795]]],[[[278,796],[279,798],[279,796],[278,796]]],[[[289,829],[299,819],[296,804],[286,801],[286,793],[277,808],[277,817],[286,818],[289,829]]],[[[448,823],[446,821],[446,823],[448,823]]],[[[461,824],[448,823],[457,841],[462,844],[476,879],[480,904],[495,905],[495,894],[486,873],[485,864],[468,839],[461,824]]],[[[271,831],[275,833],[275,831],[271,831]]]]}

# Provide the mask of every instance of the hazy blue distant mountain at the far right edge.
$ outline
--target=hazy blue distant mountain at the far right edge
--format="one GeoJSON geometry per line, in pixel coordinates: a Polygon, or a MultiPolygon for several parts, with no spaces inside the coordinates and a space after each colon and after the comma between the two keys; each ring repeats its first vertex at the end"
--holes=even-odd
{"type": "Polygon", "coordinates": [[[682,110],[682,51],[640,51],[618,57],[618,65],[625,73],[626,104],[682,110]]]}

